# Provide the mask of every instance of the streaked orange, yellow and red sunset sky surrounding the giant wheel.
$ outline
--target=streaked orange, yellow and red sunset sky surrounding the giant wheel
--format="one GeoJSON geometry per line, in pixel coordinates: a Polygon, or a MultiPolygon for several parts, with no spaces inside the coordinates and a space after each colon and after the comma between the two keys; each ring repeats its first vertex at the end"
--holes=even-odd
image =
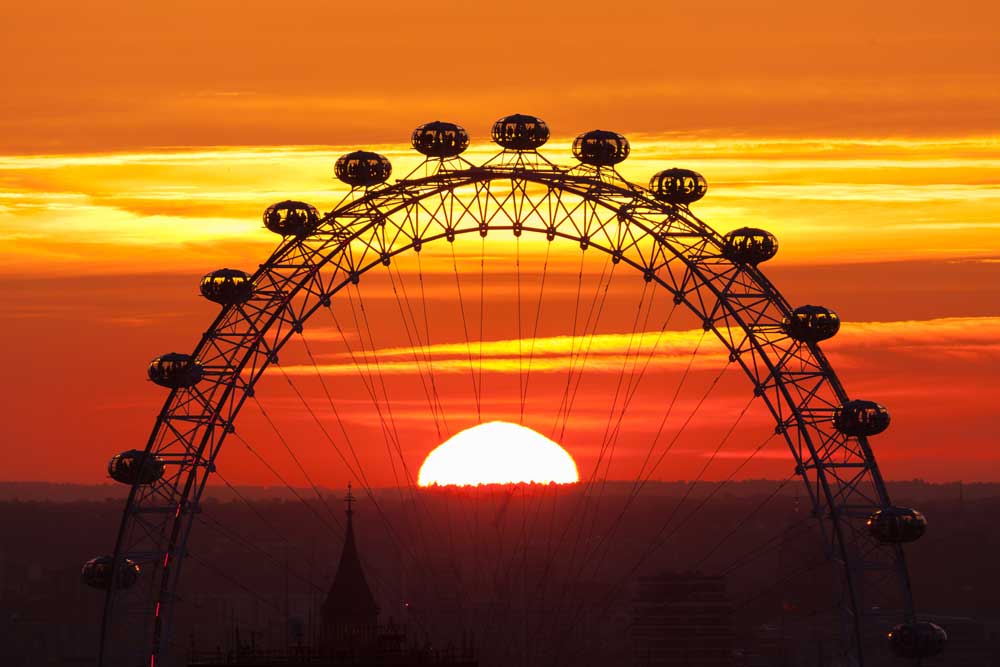
{"type": "MultiPolygon", "coordinates": [[[[197,295],[203,273],[266,259],[277,241],[260,222],[268,204],[330,210],[346,192],[333,163],[358,147],[406,174],[419,162],[410,132],[437,118],[468,128],[467,156],[483,161],[495,152],[491,123],[524,112],[548,121],[543,152],[557,162],[572,161],[582,131],[620,131],[632,142],[621,167],[630,180],[696,169],[710,186],[693,206],[699,217],[722,232],[757,226],[778,236],[767,274],[793,304],[839,312],[844,327],[824,350],[852,395],[892,411],[874,441],[887,478],[1000,481],[998,22],[1000,8],[985,0],[7,3],[0,479],[98,483],[108,456],[144,446],[163,399],[145,364],[192,348],[214,317],[197,295]]],[[[462,261],[477,248],[456,244],[462,261]]],[[[554,252],[557,275],[576,270],[578,249],[554,252]]],[[[423,270],[447,282],[450,255],[438,259],[423,270]]],[[[369,294],[375,312],[395,303],[369,294]]],[[[638,294],[616,295],[632,298],[634,312],[638,294]]],[[[622,305],[596,339],[611,365],[633,326],[628,312],[622,305]]],[[[689,325],[672,327],[676,354],[662,357],[651,382],[669,384],[683,366],[676,360],[700,333],[689,325]]],[[[487,336],[499,357],[516,343],[507,334],[487,336]]],[[[306,335],[323,345],[331,322],[306,335]]],[[[566,357],[557,335],[536,341],[556,367],[566,357]]],[[[465,341],[433,342],[447,358],[449,344],[465,341]]],[[[400,345],[387,335],[378,347],[400,345]]],[[[712,352],[704,360],[717,369],[712,352]]],[[[323,353],[336,381],[343,350],[323,353]]],[[[293,376],[314,370],[289,365],[293,376]]],[[[705,378],[714,372],[706,367],[705,378]]],[[[742,382],[724,383],[708,412],[731,421],[742,382]]],[[[581,474],[593,465],[588,424],[600,431],[607,419],[599,385],[564,443],[581,474]]],[[[319,395],[318,385],[309,390],[319,395]]],[[[635,406],[636,433],[657,422],[655,395],[635,406]]],[[[419,463],[435,443],[416,395],[408,398],[401,415],[412,408],[419,463]]],[[[322,469],[325,454],[310,453],[316,435],[296,425],[288,396],[271,400],[322,469]]],[[[456,414],[466,408],[456,404],[456,414]]],[[[246,417],[248,432],[259,431],[259,417],[246,417]]],[[[734,460],[766,430],[757,426],[747,425],[734,460]]],[[[657,476],[692,477],[696,444],[690,460],[657,476]]],[[[245,453],[225,456],[234,480],[275,483],[245,453]]],[[[751,472],[790,472],[777,453],[768,460],[751,472]]],[[[336,485],[344,474],[331,467],[317,477],[336,485]]]]}

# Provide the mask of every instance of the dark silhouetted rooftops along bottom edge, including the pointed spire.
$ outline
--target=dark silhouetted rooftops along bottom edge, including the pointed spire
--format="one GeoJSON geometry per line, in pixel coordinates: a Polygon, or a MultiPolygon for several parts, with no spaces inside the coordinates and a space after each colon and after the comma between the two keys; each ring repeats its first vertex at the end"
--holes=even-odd
{"type": "Polygon", "coordinates": [[[251,634],[240,640],[236,629],[235,646],[199,653],[192,648],[189,665],[208,667],[409,667],[410,665],[447,665],[477,667],[471,643],[458,649],[432,650],[426,642],[412,643],[404,628],[390,622],[379,623],[379,609],[365,579],[354,537],[354,497],[348,487],[347,529],[344,549],[333,584],[319,613],[320,627],[306,639],[297,633],[281,650],[258,648],[251,634]]]}

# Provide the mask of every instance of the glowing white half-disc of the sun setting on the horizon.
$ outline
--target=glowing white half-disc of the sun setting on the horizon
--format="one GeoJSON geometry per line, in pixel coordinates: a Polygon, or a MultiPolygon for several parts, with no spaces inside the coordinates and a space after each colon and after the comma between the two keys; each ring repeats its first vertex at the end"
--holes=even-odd
{"type": "Polygon", "coordinates": [[[569,453],[520,424],[488,422],[456,433],[420,467],[420,486],[477,484],[568,484],[579,481],[569,453]]]}

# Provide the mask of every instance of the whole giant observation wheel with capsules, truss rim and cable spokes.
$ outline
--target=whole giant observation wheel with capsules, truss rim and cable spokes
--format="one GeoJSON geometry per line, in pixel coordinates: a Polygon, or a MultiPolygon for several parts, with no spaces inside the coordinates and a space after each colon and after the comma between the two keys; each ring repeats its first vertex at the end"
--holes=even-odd
{"type": "MultiPolygon", "coordinates": [[[[938,653],[943,632],[916,615],[903,552],[905,543],[922,535],[926,521],[916,510],[893,504],[870,444],[889,427],[889,412],[878,397],[850,394],[824,354],[822,346],[835,345],[840,328],[836,312],[789,303],[762,271],[778,252],[776,237],[748,227],[720,233],[701,220],[691,207],[706,195],[708,186],[704,177],[689,169],[659,171],[648,186],[628,181],[619,166],[631,147],[616,132],[579,135],[572,143],[576,162],[572,165],[551,161],[541,152],[549,128],[534,116],[501,118],[493,126],[492,139],[498,150],[474,164],[465,157],[470,138],[462,127],[440,121],[422,125],[413,132],[412,146],[423,159],[395,180],[387,157],[369,151],[348,153],[337,160],[334,172],[350,191],[332,210],[323,213],[291,199],[267,207],[264,226],[281,239],[270,257],[253,271],[222,268],[204,276],[201,295],[219,306],[217,316],[190,351],[152,359],[147,374],[166,392],[163,407],[146,446],[115,454],[109,463],[109,475],[131,490],[114,549],[86,563],[83,571],[86,583],[106,591],[100,664],[178,664],[177,646],[182,642],[172,624],[176,608],[184,604],[182,566],[188,567],[187,561],[198,556],[192,556],[189,548],[193,533],[213,530],[200,525],[205,518],[203,498],[206,488],[224,474],[223,444],[227,451],[254,451],[238,419],[245,408],[271,427],[297,468],[317,488],[309,478],[310,466],[301,465],[305,458],[301,443],[283,435],[287,429],[275,423],[279,410],[262,405],[262,396],[277,384],[305,410],[305,418],[318,429],[317,439],[358,485],[359,497],[369,499],[370,514],[384,518],[378,485],[366,474],[370,468],[366,456],[378,456],[391,465],[397,486],[409,489],[410,503],[434,502],[421,500],[412,457],[404,452],[405,429],[392,413],[389,388],[399,382],[393,364],[402,364],[402,357],[410,355],[406,363],[414,391],[426,399],[424,421],[442,438],[453,434],[457,424],[486,421],[489,368],[484,371],[483,346],[489,332],[484,332],[484,304],[488,283],[495,280],[489,274],[502,273],[508,281],[505,293],[513,294],[511,303],[494,309],[501,313],[497,320],[510,326],[516,322],[516,333],[505,340],[514,341],[512,345],[522,339],[537,340],[550,247],[559,247],[563,254],[574,249],[579,255],[579,271],[568,271],[577,281],[570,281],[567,297],[575,303],[572,315],[550,315],[551,326],[546,329],[550,340],[563,335],[592,342],[612,280],[617,281],[615,289],[632,291],[638,300],[634,319],[627,322],[631,331],[623,334],[627,339],[623,358],[613,371],[604,369],[604,380],[599,382],[606,386],[611,409],[602,425],[605,437],[595,445],[594,462],[581,471],[579,485],[588,500],[579,513],[600,502],[594,499],[603,493],[617,443],[632,426],[627,408],[634,405],[644,374],[656,361],[659,336],[669,333],[671,320],[675,326],[678,321],[692,322],[693,349],[679,364],[676,392],[651,390],[662,394],[660,430],[668,422],[676,424],[678,433],[689,426],[692,418],[677,407],[683,403],[678,396],[699,355],[714,354],[718,376],[726,369],[739,376],[747,407],[717,419],[716,426],[725,443],[748,409],[767,416],[766,432],[740,462],[753,461],[765,447],[781,446],[790,480],[786,482],[797,485],[804,499],[808,538],[815,539],[822,566],[833,573],[835,586],[827,601],[837,624],[837,662],[830,664],[880,664],[874,656],[889,652],[917,664],[938,653]],[[459,245],[464,249],[461,256],[455,254],[459,245]],[[543,267],[530,289],[523,286],[519,273],[529,250],[537,253],[543,267]],[[431,333],[434,319],[445,317],[434,312],[438,301],[426,291],[432,286],[424,275],[428,261],[421,258],[433,252],[454,274],[453,279],[446,277],[457,296],[450,306],[453,330],[461,332],[457,342],[435,340],[431,333]],[[365,310],[361,291],[375,281],[390,294],[397,309],[392,326],[408,342],[388,356],[371,331],[376,324],[372,320],[384,320],[386,312],[365,310]],[[310,329],[320,327],[327,334],[335,332],[330,335],[346,350],[341,357],[346,359],[344,367],[353,369],[355,377],[347,379],[344,373],[334,376],[337,384],[326,382],[321,339],[309,338],[310,329]],[[448,344],[456,350],[454,358],[447,368],[441,363],[435,369],[429,350],[448,344]],[[310,404],[306,398],[310,394],[302,388],[306,378],[320,396],[318,403],[310,404]],[[462,383],[464,406],[442,400],[446,383],[462,383]],[[337,412],[337,405],[348,386],[361,394],[354,398],[369,405],[381,438],[377,442],[352,440],[350,429],[342,426],[347,415],[343,407],[337,412]]],[[[548,372],[543,370],[544,352],[526,342],[511,353],[504,359],[508,367],[503,370],[502,388],[509,398],[508,414],[524,421],[525,415],[542,413],[551,423],[551,435],[565,435],[574,421],[580,378],[592,367],[590,352],[589,344],[570,343],[569,370],[565,381],[560,380],[561,394],[551,402],[532,396],[539,385],[533,375],[548,372]]],[[[717,386],[718,376],[713,371],[716,380],[705,386],[705,392],[717,386]]],[[[695,393],[690,400],[692,415],[704,402],[701,389],[695,393]]],[[[612,513],[619,519],[635,507],[639,490],[671,451],[672,442],[664,445],[661,433],[655,435],[642,465],[630,469],[632,484],[624,504],[612,513]]],[[[722,443],[706,450],[706,468],[716,462],[722,443]]],[[[734,468],[723,484],[741,469],[734,468]]],[[[700,469],[699,479],[704,472],[700,469]]],[[[694,474],[690,477],[695,479],[694,474]]],[[[713,486],[708,497],[720,488],[713,486]]],[[[320,495],[318,489],[316,493],[320,495]]],[[[614,529],[608,529],[589,544],[574,544],[569,562],[583,571],[598,560],[617,561],[611,588],[620,589],[642,570],[652,550],[669,544],[679,524],[696,522],[696,512],[707,502],[687,496],[684,501],[693,511],[678,514],[676,506],[665,508],[651,528],[648,549],[615,554],[614,529]]],[[[315,502],[303,503],[307,511],[316,512],[315,502]]],[[[334,514],[320,507],[322,517],[317,519],[336,521],[334,514]]],[[[725,527],[713,554],[739,530],[741,521],[753,516],[755,508],[746,510],[731,530],[725,527]]],[[[416,516],[419,510],[413,512],[416,516]]],[[[386,530],[391,534],[387,539],[395,542],[399,526],[386,530]]],[[[572,540],[574,530],[553,526],[549,540],[557,546],[552,550],[572,540]]],[[[407,550],[397,546],[401,553],[407,550]]],[[[728,544],[721,550],[727,548],[728,544]]],[[[516,565],[513,556],[508,560],[507,566],[516,565]]],[[[597,606],[613,592],[598,595],[597,606]]],[[[558,597],[554,592],[551,596],[558,597]]],[[[557,648],[544,661],[570,661],[571,651],[562,647],[565,642],[565,638],[553,640],[557,648]],[[552,655],[561,657],[554,660],[552,655]]]]}

